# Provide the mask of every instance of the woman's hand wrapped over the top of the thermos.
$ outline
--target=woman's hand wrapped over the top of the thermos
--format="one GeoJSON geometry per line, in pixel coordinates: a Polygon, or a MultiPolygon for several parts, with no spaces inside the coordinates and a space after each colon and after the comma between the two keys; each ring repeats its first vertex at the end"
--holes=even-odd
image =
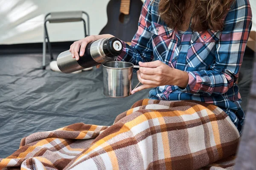
{"type": "Polygon", "coordinates": [[[102,35],[90,35],[88,37],[85,37],[82,40],[75,41],[72,45],[70,45],[69,51],[72,53],[72,57],[76,58],[76,60],[79,60],[79,56],[84,55],[85,47],[89,42],[96,41],[102,38],[111,38],[114,37],[111,34],[102,34],[102,35]],[[80,50],[80,54],[79,53],[80,50]]]}

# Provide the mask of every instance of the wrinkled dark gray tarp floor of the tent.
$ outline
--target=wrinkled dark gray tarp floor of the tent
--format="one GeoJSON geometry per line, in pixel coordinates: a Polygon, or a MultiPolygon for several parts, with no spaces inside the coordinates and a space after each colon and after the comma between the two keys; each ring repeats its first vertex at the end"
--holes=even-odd
{"type": "MultiPolygon", "coordinates": [[[[19,148],[20,139],[38,131],[73,123],[112,125],[134,102],[148,97],[143,90],[126,98],[104,96],[102,68],[79,74],[41,70],[41,54],[0,55],[0,158],[19,148]]],[[[246,109],[253,54],[241,68],[240,93],[246,109]]],[[[137,83],[134,74],[134,85],[137,83]]]]}

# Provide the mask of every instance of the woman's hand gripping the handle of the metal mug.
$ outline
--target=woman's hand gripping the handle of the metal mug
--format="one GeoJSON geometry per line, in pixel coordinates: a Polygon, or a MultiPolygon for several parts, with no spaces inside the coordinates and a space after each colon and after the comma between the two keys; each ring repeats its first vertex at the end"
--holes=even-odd
{"type": "Polygon", "coordinates": [[[186,88],[189,75],[185,71],[171,68],[160,60],[153,62],[139,62],[137,71],[139,81],[143,84],[135,88],[131,94],[146,88],[155,88],[161,85],[177,85],[186,88]]]}

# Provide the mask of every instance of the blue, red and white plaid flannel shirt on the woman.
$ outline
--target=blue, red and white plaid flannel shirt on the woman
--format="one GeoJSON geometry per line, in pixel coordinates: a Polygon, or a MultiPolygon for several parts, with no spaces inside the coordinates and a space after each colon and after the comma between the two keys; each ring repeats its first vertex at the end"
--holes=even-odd
{"type": "Polygon", "coordinates": [[[132,45],[123,42],[124,50],[118,60],[138,65],[139,61],[154,59],[186,71],[189,75],[186,88],[160,86],[150,91],[149,98],[196,100],[217,105],[241,132],[244,112],[236,80],[252,25],[249,0],[235,1],[222,31],[195,32],[189,27],[181,37],[177,29],[168,28],[160,19],[159,0],[151,3],[145,0],[132,45]]]}

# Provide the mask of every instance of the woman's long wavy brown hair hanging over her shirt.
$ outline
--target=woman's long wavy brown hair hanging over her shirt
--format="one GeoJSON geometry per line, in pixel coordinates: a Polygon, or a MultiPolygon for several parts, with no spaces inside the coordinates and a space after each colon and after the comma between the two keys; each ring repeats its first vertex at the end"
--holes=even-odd
{"type": "MultiPolygon", "coordinates": [[[[154,2],[155,0],[153,0],[154,2]]],[[[184,16],[192,2],[191,28],[193,31],[221,31],[224,18],[235,0],[160,0],[158,11],[161,19],[170,28],[181,26],[187,18],[184,16]]],[[[189,18],[190,21],[190,18],[189,18]]]]}

